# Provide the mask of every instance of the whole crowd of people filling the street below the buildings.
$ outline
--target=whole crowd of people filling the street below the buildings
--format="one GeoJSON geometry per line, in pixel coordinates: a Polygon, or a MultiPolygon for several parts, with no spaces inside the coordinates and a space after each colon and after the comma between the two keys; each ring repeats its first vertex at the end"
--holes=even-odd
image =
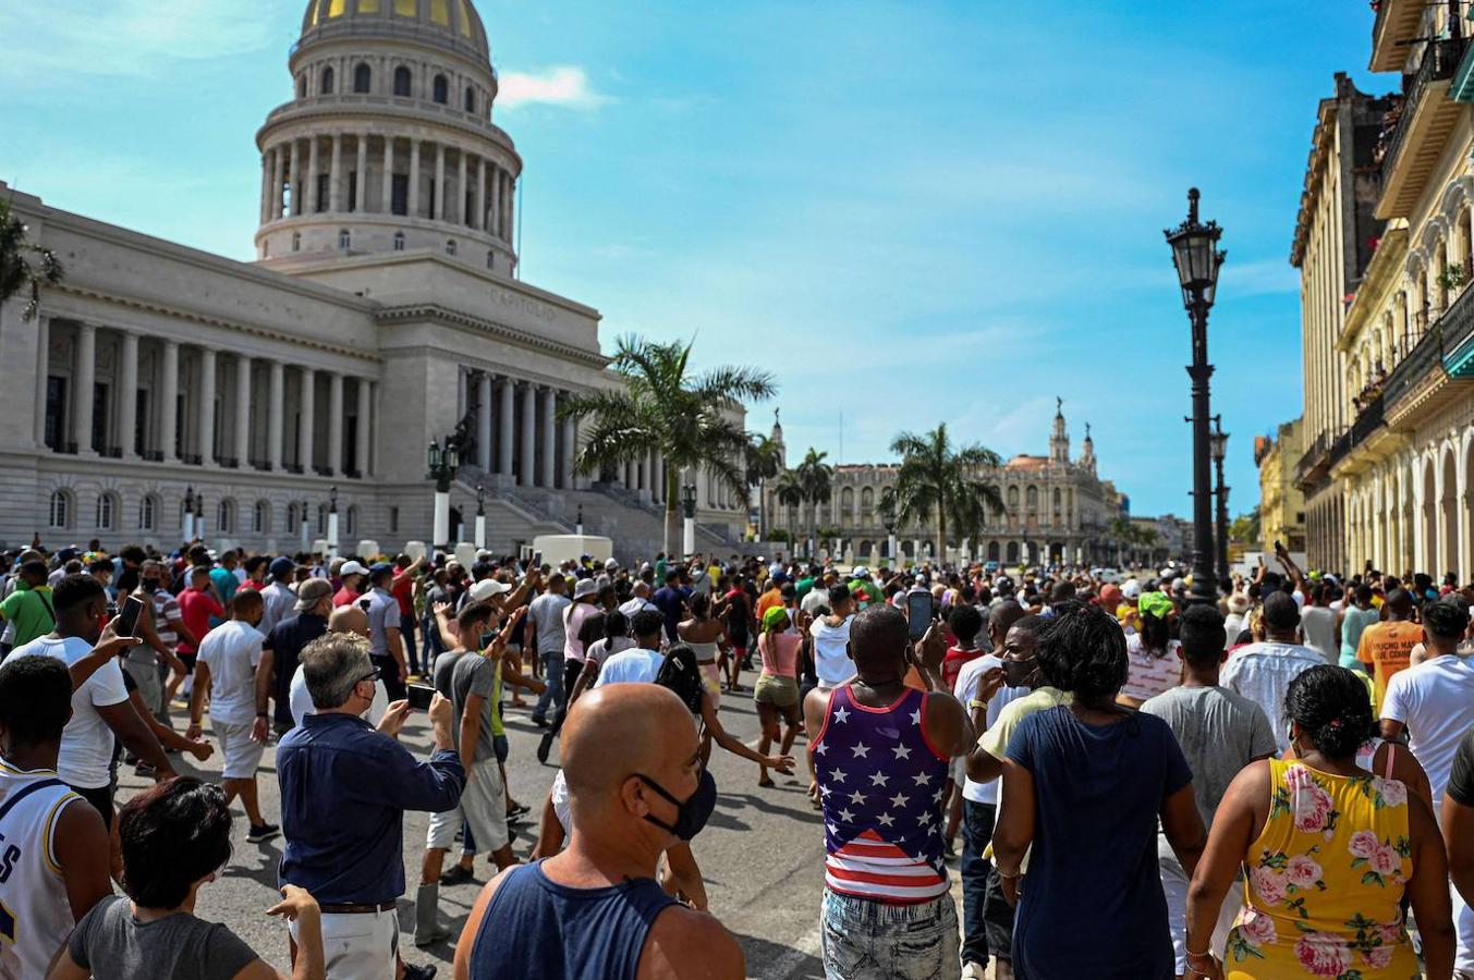
{"type": "Polygon", "coordinates": [[[1212,604],[1173,569],[7,560],[4,979],[284,976],[193,915],[237,802],[248,843],[283,839],[262,912],[295,979],[433,976],[401,955],[407,812],[432,815],[410,940],[454,940],[457,977],[741,977],[693,847],[708,760],[769,787],[800,740],[830,977],[1474,977],[1474,588],[1452,575],[1281,553],[1212,604]],[[721,721],[738,697],[753,746],[721,721]],[[541,799],[511,796],[507,709],[557,750],[541,799]],[[425,756],[399,743],[414,710],[425,756]],[[175,775],[217,752],[218,784],[175,775]],[[119,809],[122,765],[153,785],[119,809]],[[439,889],[476,855],[498,872],[457,934],[439,889]]]}

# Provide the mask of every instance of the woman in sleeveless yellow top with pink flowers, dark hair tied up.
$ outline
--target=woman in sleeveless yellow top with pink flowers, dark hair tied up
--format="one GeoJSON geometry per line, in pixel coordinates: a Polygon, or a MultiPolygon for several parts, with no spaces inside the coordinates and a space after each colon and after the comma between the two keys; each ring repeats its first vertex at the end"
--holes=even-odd
{"type": "Polygon", "coordinates": [[[1422,937],[1427,977],[1453,974],[1443,840],[1433,811],[1397,780],[1356,765],[1371,737],[1365,685],[1338,666],[1290,684],[1291,760],[1247,766],[1229,784],[1188,890],[1187,977],[1419,980],[1402,897],[1422,937]],[[1209,951],[1235,880],[1244,911],[1209,951]],[[1222,961],[1213,953],[1220,953],[1222,961]]]}

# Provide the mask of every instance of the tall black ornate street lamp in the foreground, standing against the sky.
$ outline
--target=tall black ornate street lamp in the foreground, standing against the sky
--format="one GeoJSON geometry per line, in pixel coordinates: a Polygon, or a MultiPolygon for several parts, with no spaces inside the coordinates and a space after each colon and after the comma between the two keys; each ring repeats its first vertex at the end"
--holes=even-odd
{"type": "Polygon", "coordinates": [[[1218,271],[1228,258],[1219,251],[1223,230],[1216,221],[1198,221],[1198,190],[1188,190],[1188,218],[1176,228],[1163,231],[1172,246],[1172,264],[1182,287],[1182,305],[1192,323],[1192,594],[1194,603],[1216,603],[1213,582],[1213,501],[1209,472],[1209,379],[1213,365],[1207,363],[1207,311],[1213,308],[1218,271]]]}

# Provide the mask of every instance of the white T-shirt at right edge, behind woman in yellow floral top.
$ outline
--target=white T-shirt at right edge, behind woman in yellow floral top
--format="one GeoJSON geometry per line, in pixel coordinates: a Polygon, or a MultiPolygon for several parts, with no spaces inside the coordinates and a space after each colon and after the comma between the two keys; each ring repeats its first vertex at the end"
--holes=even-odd
{"type": "Polygon", "coordinates": [[[1474,663],[1446,653],[1399,671],[1387,681],[1383,718],[1408,727],[1408,749],[1428,772],[1437,813],[1453,755],[1474,728],[1474,663]]]}

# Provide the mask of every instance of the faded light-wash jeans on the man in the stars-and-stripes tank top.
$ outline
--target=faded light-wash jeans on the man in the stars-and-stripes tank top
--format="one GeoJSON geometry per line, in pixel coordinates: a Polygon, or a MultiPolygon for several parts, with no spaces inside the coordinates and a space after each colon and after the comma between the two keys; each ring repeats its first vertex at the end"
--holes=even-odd
{"type": "Polygon", "coordinates": [[[951,895],[886,905],[824,889],[820,948],[827,980],[952,980],[963,974],[951,895]]]}

